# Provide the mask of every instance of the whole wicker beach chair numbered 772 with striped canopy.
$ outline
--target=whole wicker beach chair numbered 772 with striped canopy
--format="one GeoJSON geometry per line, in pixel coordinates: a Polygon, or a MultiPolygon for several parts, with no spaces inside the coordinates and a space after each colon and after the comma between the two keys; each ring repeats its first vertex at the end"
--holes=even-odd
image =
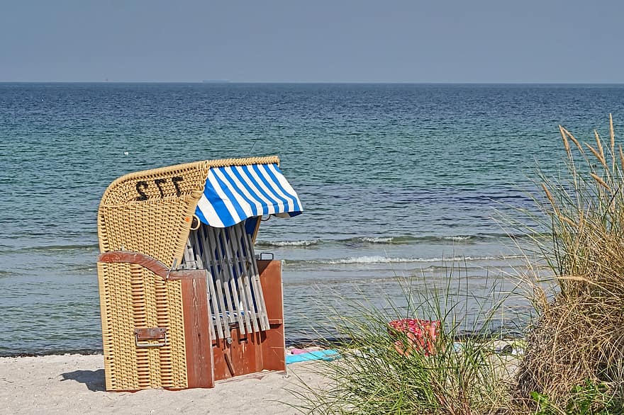
{"type": "Polygon", "coordinates": [[[281,262],[256,256],[254,241],[262,216],[301,211],[277,157],[113,181],[98,210],[106,390],[286,370],[281,262]]]}

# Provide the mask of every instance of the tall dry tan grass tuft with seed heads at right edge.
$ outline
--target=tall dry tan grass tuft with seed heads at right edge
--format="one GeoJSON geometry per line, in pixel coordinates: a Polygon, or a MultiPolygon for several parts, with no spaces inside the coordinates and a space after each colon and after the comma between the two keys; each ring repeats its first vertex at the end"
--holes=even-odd
{"type": "Polygon", "coordinates": [[[623,151],[615,147],[611,116],[606,145],[596,131],[595,143],[583,145],[564,127],[559,130],[567,164],[559,178],[541,177],[542,227],[552,239],[539,241],[557,290],[552,300],[540,302],[540,318],[528,330],[516,397],[525,410],[543,413],[620,414],[624,413],[623,151]]]}

